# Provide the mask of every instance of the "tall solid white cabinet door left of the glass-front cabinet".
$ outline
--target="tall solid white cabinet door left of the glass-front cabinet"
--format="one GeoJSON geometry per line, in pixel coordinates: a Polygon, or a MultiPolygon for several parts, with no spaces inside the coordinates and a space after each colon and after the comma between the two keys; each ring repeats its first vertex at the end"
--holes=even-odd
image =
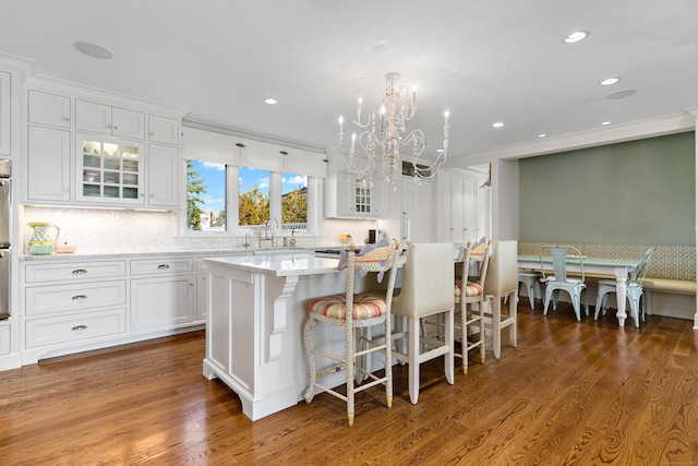
{"type": "Polygon", "coordinates": [[[27,128],[25,199],[28,203],[71,200],[70,140],[67,130],[27,128]]]}

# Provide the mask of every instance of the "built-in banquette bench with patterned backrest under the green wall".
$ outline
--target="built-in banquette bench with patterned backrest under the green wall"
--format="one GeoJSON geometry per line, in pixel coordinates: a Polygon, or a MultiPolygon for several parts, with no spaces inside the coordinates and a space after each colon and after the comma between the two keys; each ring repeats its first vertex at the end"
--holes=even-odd
{"type": "MultiPolygon", "coordinates": [[[[519,242],[518,252],[535,255],[541,246],[551,242],[519,242]]],[[[639,259],[652,244],[586,244],[565,243],[589,258],[639,259]]],[[[696,320],[696,247],[685,244],[654,246],[654,256],[645,277],[648,313],[696,320]],[[684,295],[683,298],[662,295],[684,295]]],[[[589,276],[590,284],[594,278],[589,276]]]]}

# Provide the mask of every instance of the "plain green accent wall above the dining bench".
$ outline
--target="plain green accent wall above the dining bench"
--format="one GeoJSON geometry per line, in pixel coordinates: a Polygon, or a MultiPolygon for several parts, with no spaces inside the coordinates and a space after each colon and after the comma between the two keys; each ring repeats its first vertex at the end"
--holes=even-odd
{"type": "Polygon", "coordinates": [[[686,132],[519,160],[519,240],[696,243],[696,142],[686,132]]]}

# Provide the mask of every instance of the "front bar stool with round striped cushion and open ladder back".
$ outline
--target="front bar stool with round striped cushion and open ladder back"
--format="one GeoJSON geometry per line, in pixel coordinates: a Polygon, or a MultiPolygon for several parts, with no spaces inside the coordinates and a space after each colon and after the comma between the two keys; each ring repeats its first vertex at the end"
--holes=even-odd
{"type": "MultiPolygon", "coordinates": [[[[340,259],[340,263],[344,258],[340,259]]],[[[332,295],[315,298],[308,304],[309,319],[305,322],[303,334],[308,366],[310,368],[310,383],[305,391],[305,402],[311,403],[315,395],[315,389],[321,389],[337,398],[347,402],[347,419],[349,426],[353,426],[354,394],[377,384],[385,385],[385,396],[388,408],[393,404],[393,360],[390,338],[390,309],[393,303],[393,290],[397,271],[397,254],[389,247],[376,248],[362,256],[357,256],[353,247],[346,258],[347,291],[342,295],[332,295]],[[378,272],[383,274],[389,271],[387,288],[382,297],[375,294],[354,294],[354,279],[357,273],[378,272]],[[345,328],[345,354],[333,355],[315,347],[315,330],[318,324],[329,324],[345,328]],[[385,339],[382,344],[368,346],[368,349],[359,349],[357,330],[373,325],[384,324],[385,339]],[[358,387],[354,387],[354,367],[361,358],[370,358],[374,351],[383,351],[385,357],[385,374],[380,378],[358,366],[357,370],[370,379],[358,387]],[[315,356],[322,356],[340,363],[340,368],[347,373],[347,395],[325,386],[318,382],[323,372],[316,369],[315,356]]]]}

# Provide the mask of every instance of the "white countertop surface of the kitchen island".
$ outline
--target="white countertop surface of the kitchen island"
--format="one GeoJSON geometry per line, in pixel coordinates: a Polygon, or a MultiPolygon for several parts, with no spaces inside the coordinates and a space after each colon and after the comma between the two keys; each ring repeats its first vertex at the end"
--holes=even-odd
{"type": "Polygon", "coordinates": [[[310,253],[256,254],[206,259],[210,264],[276,276],[336,273],[339,259],[317,258],[310,253]]]}

